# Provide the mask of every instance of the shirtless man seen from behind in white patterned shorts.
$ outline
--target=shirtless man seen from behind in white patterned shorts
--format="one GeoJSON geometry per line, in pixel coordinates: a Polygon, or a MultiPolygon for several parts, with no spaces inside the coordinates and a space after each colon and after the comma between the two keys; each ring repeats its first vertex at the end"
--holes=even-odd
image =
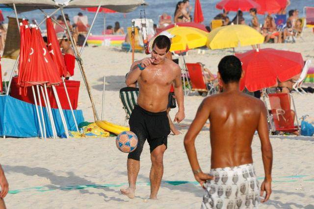
{"type": "Polygon", "coordinates": [[[184,138],[184,146],[195,179],[205,189],[202,208],[255,208],[271,193],[272,147],[268,136],[266,108],[260,99],[239,91],[243,76],[235,56],[224,57],[218,65],[218,79],[224,92],[205,98],[184,138]],[[202,172],[196,156],[195,138],[210,121],[211,170],[202,172]],[[259,189],[252,159],[251,143],[258,131],[262,144],[265,179],[259,189]]]}

